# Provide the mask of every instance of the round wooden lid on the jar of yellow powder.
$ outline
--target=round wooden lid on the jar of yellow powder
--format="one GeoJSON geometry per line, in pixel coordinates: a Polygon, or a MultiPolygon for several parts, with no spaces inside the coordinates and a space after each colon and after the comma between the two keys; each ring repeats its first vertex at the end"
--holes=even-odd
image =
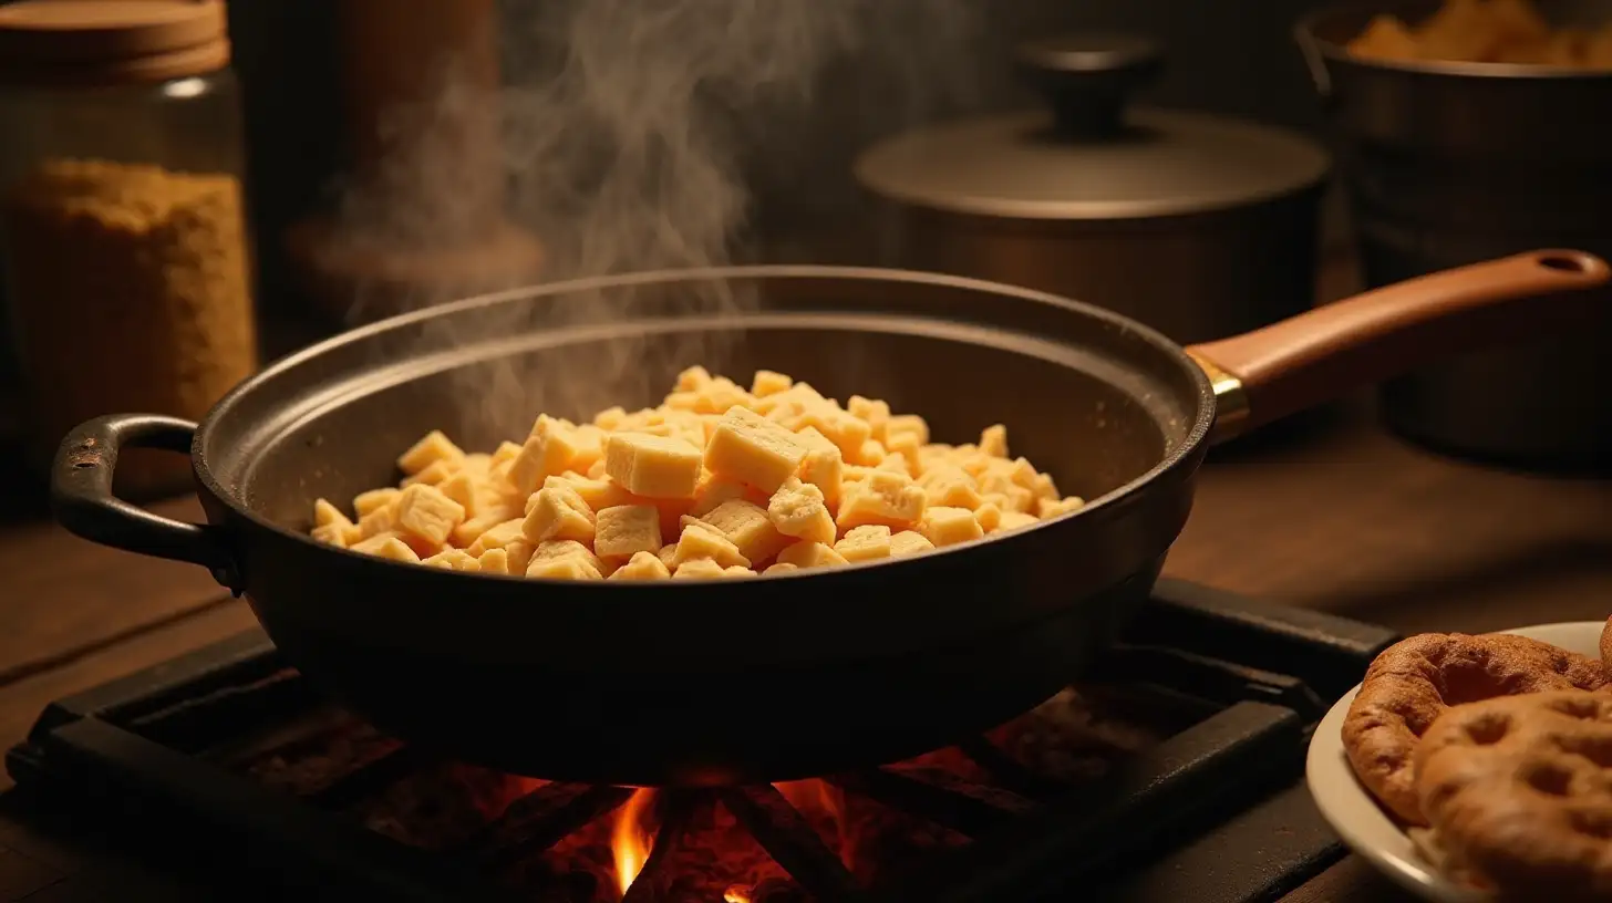
{"type": "Polygon", "coordinates": [[[222,0],[21,0],[0,5],[0,82],[150,84],[229,64],[222,0]]]}

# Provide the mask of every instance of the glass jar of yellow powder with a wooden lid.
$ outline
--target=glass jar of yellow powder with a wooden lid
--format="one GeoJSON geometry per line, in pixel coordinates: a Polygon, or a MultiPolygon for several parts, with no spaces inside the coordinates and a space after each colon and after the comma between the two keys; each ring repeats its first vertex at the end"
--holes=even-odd
{"type": "MultiPolygon", "coordinates": [[[[0,5],[0,273],[42,471],[79,421],[202,419],[256,368],[221,0],[0,5]]],[[[131,455],[119,492],[189,485],[131,455]]]]}

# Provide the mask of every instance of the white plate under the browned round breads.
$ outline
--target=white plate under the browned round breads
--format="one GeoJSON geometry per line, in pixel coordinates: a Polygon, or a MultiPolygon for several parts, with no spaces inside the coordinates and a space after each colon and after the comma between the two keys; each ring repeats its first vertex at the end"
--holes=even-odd
{"type": "MultiPolygon", "coordinates": [[[[1602,621],[1578,621],[1573,624],[1539,624],[1506,630],[1551,643],[1554,647],[1601,658],[1602,621]]],[[[1361,692],[1352,690],[1332,706],[1327,718],[1315,727],[1309,758],[1304,764],[1306,780],[1315,808],[1332,824],[1343,842],[1370,861],[1383,876],[1423,900],[1436,903],[1480,903],[1493,900],[1488,893],[1460,887],[1428,864],[1410,837],[1377,805],[1365,790],[1343,751],[1343,716],[1361,692]]]]}

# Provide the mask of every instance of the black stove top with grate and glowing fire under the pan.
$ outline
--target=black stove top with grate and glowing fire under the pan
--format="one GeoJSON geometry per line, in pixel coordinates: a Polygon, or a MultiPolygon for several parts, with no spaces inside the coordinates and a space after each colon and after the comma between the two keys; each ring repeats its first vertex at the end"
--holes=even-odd
{"type": "Polygon", "coordinates": [[[6,766],[74,818],[184,824],[208,859],[305,900],[1254,903],[1343,855],[1302,750],[1394,639],[1162,580],[1095,674],[983,737],[650,792],[442,761],[251,630],[53,703],[6,766]]]}

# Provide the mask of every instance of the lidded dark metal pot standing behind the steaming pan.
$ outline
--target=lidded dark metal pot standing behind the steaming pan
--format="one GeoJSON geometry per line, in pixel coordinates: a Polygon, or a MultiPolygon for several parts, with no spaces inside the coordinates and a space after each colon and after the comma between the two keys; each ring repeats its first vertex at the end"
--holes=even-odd
{"type": "Polygon", "coordinates": [[[1096,303],[1175,342],[1311,305],[1327,155],[1280,129],[1130,106],[1161,69],[1127,35],[1024,45],[1049,110],[898,135],[856,161],[895,266],[1096,303]]]}

